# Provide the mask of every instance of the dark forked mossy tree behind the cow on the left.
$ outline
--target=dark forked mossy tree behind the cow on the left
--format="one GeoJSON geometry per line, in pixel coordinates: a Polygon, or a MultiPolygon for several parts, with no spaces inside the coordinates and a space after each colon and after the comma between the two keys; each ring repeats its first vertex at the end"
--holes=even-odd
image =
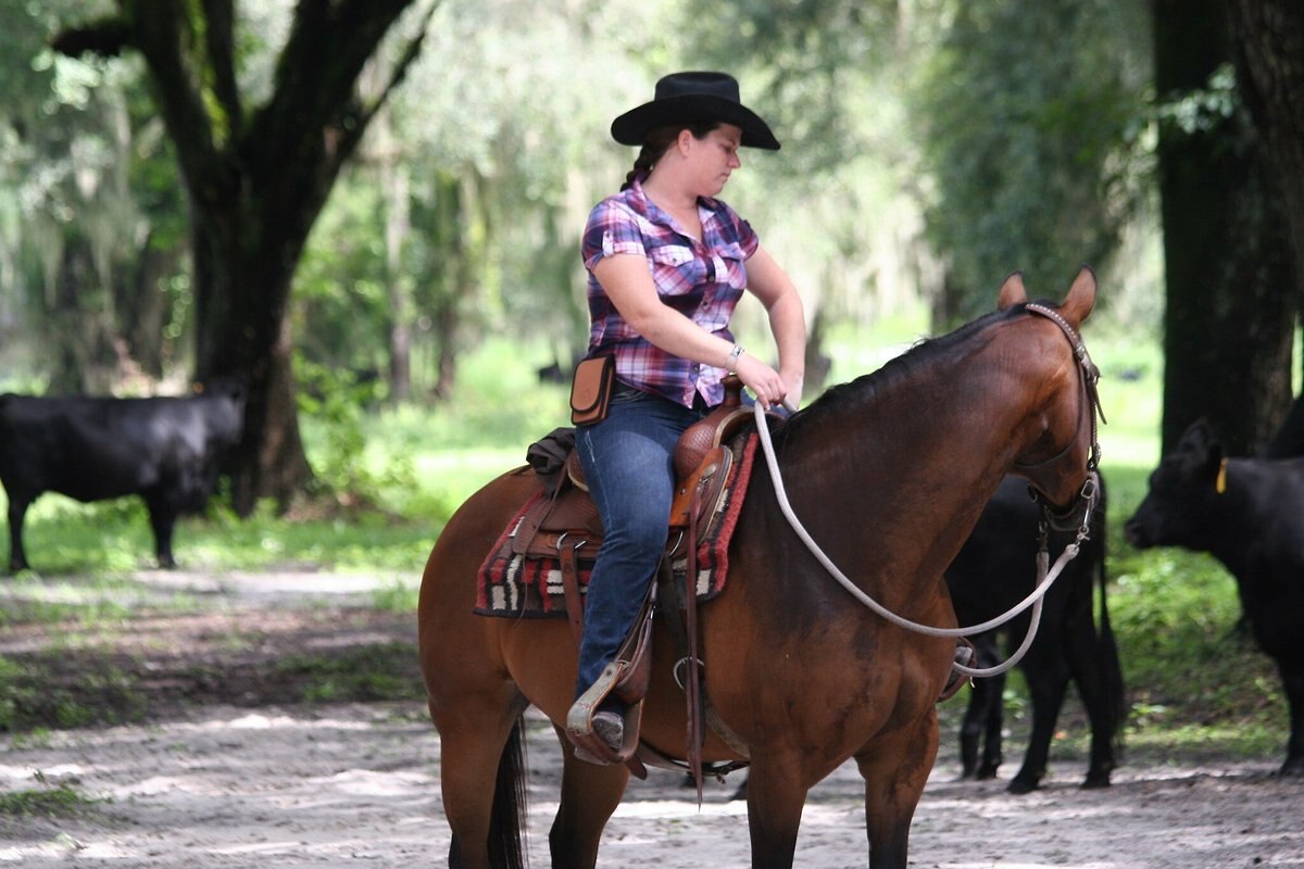
{"type": "Polygon", "coordinates": [[[262,496],[288,506],[312,478],[295,401],[291,287],[336,176],[417,56],[429,8],[406,22],[411,34],[400,29],[378,86],[359,87],[409,5],[425,4],[296,4],[274,50],[270,87],[241,81],[246,51],[263,48],[269,31],[239,20],[235,0],[117,0],[111,12],[61,22],[51,39],[68,57],[143,60],[189,207],[194,374],[248,386],[244,434],[230,463],[243,516],[262,496]]]}

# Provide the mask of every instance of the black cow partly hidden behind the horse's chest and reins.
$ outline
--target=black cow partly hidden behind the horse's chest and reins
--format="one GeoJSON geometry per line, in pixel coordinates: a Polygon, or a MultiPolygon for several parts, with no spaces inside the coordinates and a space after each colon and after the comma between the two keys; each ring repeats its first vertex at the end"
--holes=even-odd
{"type": "MultiPolygon", "coordinates": [[[[1041,508],[1029,498],[1028,483],[1007,477],[983,509],[969,539],[947,568],[947,585],[961,625],[979,624],[1026,598],[1037,582],[1035,552],[1041,508]]],[[[1051,564],[1076,533],[1051,532],[1051,564]]],[[[1104,599],[1104,490],[1093,516],[1091,535],[1077,558],[1046,593],[1041,628],[1018,667],[1033,701],[1033,730],[1024,766],[1009,783],[1012,793],[1028,793],[1046,774],[1055,719],[1068,683],[1077,685],[1091,724],[1091,753],[1082,787],[1108,787],[1119,728],[1127,715],[1123,672],[1110,629],[1104,599]],[[1099,580],[1101,628],[1093,618],[1099,580]]],[[[1008,625],[970,637],[982,666],[998,663],[998,634],[1017,648],[1028,632],[1030,611],[1008,625]]],[[[995,778],[1000,765],[1001,713],[1005,677],[975,679],[960,731],[960,760],[965,778],[995,778]],[[983,743],[979,762],[979,743],[983,743]]]]}

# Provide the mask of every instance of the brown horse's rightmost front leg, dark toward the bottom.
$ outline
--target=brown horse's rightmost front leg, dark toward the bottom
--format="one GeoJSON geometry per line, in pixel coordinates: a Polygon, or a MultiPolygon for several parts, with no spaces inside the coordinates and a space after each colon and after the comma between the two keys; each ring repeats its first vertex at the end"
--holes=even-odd
{"type": "Polygon", "coordinates": [[[914,727],[875,739],[872,752],[855,758],[865,779],[865,831],[870,869],[905,869],[910,821],[938,756],[938,710],[914,727]]]}

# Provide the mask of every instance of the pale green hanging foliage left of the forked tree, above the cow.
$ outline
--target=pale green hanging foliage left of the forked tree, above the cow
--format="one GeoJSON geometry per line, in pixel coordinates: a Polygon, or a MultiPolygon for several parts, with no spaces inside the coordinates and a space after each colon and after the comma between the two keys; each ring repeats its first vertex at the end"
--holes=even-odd
{"type": "Polygon", "coordinates": [[[48,48],[60,21],[106,8],[0,9],[4,349],[61,392],[121,387],[119,339],[151,377],[184,361],[186,202],[142,65],[48,48]]]}

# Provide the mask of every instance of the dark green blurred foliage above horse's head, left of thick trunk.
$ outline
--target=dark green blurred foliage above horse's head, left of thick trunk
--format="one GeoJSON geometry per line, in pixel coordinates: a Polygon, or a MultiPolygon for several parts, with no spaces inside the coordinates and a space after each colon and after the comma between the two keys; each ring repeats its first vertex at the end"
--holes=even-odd
{"type": "Polygon", "coordinates": [[[1145,16],[1114,0],[947,4],[917,94],[930,235],[969,319],[974,291],[1015,267],[1103,267],[1145,164],[1145,16]]]}

